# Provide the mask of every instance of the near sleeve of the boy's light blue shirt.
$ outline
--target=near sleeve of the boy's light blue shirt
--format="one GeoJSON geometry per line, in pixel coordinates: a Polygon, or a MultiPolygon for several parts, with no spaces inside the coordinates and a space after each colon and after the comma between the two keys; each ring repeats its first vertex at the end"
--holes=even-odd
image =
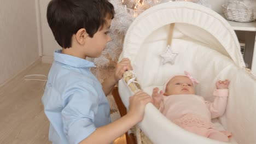
{"type": "Polygon", "coordinates": [[[86,83],[76,85],[68,93],[61,112],[63,130],[69,143],[79,143],[96,130],[94,116],[98,109],[98,94],[86,83]]]}

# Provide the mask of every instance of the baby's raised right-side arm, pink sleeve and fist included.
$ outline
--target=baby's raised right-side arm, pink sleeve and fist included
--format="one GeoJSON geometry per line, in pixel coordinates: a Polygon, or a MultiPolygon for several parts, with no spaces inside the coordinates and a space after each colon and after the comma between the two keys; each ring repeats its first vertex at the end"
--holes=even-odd
{"type": "Polygon", "coordinates": [[[218,81],[216,83],[217,89],[214,90],[213,95],[216,96],[213,103],[206,101],[206,105],[211,112],[212,118],[220,117],[224,114],[229,95],[229,80],[218,81]]]}

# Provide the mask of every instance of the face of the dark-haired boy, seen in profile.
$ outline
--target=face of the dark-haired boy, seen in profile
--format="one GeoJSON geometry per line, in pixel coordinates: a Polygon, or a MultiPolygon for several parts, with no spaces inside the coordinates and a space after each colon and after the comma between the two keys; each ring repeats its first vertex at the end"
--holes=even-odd
{"type": "Polygon", "coordinates": [[[110,17],[107,16],[105,20],[106,23],[98,29],[98,31],[94,34],[94,37],[86,37],[86,57],[100,57],[108,41],[111,40],[108,33],[112,19],[110,19],[110,17]]]}

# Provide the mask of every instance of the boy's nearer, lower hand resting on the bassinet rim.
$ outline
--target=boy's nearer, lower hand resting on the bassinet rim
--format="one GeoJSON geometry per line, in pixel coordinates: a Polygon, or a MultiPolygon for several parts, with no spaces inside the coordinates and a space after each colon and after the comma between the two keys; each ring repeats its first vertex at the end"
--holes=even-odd
{"type": "Polygon", "coordinates": [[[139,91],[130,97],[129,112],[132,117],[136,118],[137,122],[141,122],[144,117],[145,106],[153,100],[147,93],[139,91]]]}

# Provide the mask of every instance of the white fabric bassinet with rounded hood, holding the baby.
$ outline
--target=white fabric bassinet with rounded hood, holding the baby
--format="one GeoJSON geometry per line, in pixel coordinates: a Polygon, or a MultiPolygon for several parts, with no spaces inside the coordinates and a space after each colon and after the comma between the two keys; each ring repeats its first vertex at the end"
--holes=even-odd
{"type": "MultiPolygon", "coordinates": [[[[190,2],[155,5],[133,21],[123,57],[131,59],[141,88],[150,95],[153,87],[161,88],[168,77],[187,70],[200,81],[196,93],[212,101],[216,81],[229,79],[226,112],[215,124],[232,132],[231,143],[256,143],[256,80],[245,69],[236,34],[222,16],[190,2]],[[170,23],[175,23],[171,47],[179,53],[173,65],[162,64],[159,56],[166,49],[170,23]]],[[[128,108],[132,92],[124,81],[119,81],[119,94],[128,108]]],[[[138,126],[153,143],[223,143],[179,128],[151,103],[138,126]]]]}

